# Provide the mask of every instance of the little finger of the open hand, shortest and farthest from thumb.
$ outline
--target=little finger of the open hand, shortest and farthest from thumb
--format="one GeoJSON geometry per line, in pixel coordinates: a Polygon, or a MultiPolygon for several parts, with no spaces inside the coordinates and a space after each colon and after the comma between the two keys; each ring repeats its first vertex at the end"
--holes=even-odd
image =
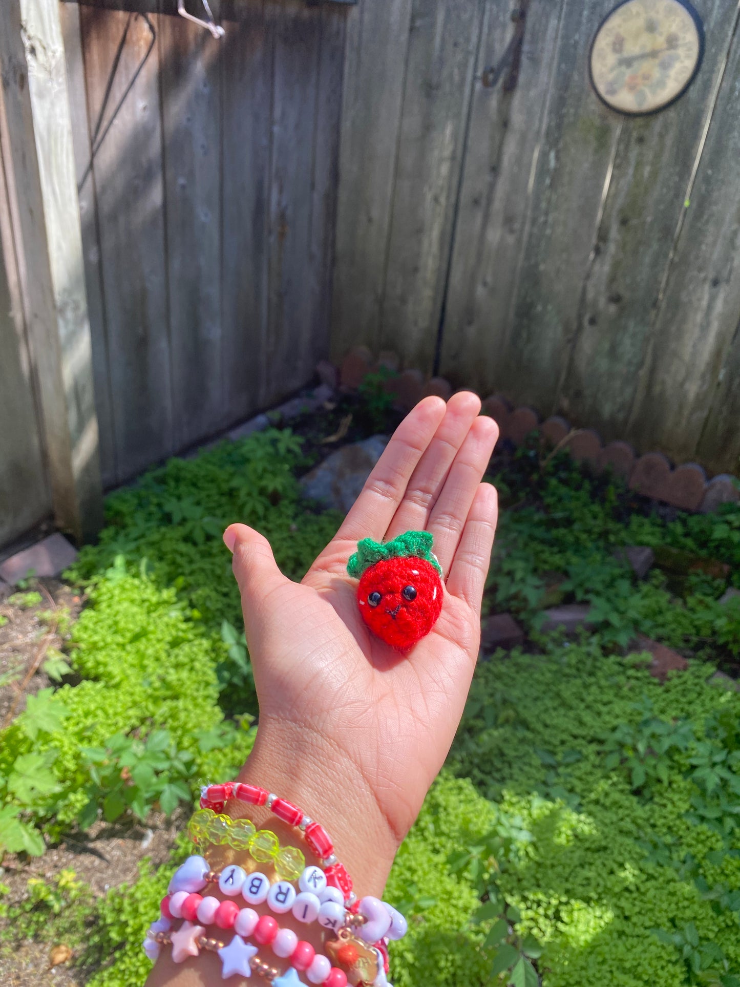
{"type": "Polygon", "coordinates": [[[498,496],[490,484],[480,484],[471,504],[447,589],[477,613],[481,613],[483,585],[490,563],[493,535],[498,519],[498,496]]]}

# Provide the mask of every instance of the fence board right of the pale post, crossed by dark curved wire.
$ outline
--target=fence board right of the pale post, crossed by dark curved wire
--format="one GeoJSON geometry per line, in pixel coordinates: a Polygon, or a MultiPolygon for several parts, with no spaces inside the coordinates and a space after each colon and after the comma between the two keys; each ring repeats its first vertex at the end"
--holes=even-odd
{"type": "Polygon", "coordinates": [[[93,168],[122,480],[174,449],[160,25],[156,15],[91,7],[80,16],[89,123],[100,145],[93,168]]]}

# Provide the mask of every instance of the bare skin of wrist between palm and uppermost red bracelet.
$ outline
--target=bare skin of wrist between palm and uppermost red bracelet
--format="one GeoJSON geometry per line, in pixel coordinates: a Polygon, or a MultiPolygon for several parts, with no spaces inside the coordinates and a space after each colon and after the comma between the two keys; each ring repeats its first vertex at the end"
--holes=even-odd
{"type": "MultiPolygon", "coordinates": [[[[299,805],[329,832],[334,854],[352,877],[357,895],[382,895],[400,840],[360,768],[326,737],[291,721],[260,718],[255,747],[239,781],[299,805]]],[[[248,814],[240,802],[227,808],[232,815],[248,814]]],[[[283,832],[290,828],[263,806],[249,808],[258,826],[283,832]]]]}

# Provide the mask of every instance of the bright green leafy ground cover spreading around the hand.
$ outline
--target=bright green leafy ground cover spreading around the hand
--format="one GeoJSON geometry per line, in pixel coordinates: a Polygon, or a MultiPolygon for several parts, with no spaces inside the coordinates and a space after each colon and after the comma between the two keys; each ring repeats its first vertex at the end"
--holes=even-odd
{"type": "MultiPolygon", "coordinates": [[[[384,384],[368,381],[354,410],[368,428],[392,425],[384,384]]],[[[66,684],[30,697],[0,736],[0,852],[173,812],[243,762],[258,710],[221,532],[246,521],[287,573],[308,568],[339,516],[301,497],[320,440],[306,429],[171,460],[111,495],[99,544],[68,573],[87,606],[50,656],[66,684]]],[[[528,638],[481,661],[398,855],[387,895],[409,934],[394,982],[738,987],[740,695],[711,676],[740,667],[740,603],[722,602],[740,586],[740,509],[661,513],[534,440],[491,475],[503,509],[485,608],[528,638]],[[629,545],[656,552],[643,580],[620,555],[629,545]],[[588,627],[543,634],[554,602],[588,604],[588,627]],[[681,650],[688,670],[661,684],[638,635],[681,650]]],[[[142,983],[141,941],[186,853],[181,836],[171,866],[145,861],[103,898],[71,872],[20,902],[0,885],[0,944],[9,928],[64,937],[85,983],[142,983]]]]}

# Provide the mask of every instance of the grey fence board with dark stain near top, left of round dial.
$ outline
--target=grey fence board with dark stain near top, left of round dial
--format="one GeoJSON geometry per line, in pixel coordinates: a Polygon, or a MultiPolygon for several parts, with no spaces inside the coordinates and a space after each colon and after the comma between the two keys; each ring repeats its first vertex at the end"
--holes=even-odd
{"type": "Polygon", "coordinates": [[[518,0],[486,0],[442,333],[440,372],[482,394],[513,383],[502,375],[501,348],[533,204],[562,14],[562,3],[532,0],[514,79],[512,13],[519,6],[518,0]],[[486,69],[500,73],[493,86],[483,85],[486,69]]]}

